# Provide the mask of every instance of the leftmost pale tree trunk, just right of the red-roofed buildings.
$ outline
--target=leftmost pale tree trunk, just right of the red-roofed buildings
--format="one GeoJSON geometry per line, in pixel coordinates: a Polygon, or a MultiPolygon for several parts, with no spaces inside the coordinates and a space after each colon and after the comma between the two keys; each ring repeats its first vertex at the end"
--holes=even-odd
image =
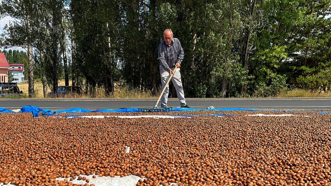
{"type": "MultiPolygon", "coordinates": [[[[28,20],[24,20],[25,22],[25,26],[26,29],[28,30],[28,32],[30,33],[30,23],[28,20]]],[[[28,38],[28,43],[29,43],[29,38],[28,38]]],[[[33,85],[33,68],[34,68],[34,62],[32,60],[32,47],[28,44],[27,45],[27,59],[28,59],[28,63],[29,63],[29,86],[28,86],[28,93],[29,93],[29,97],[33,97],[34,96],[34,85],[33,85]]]]}

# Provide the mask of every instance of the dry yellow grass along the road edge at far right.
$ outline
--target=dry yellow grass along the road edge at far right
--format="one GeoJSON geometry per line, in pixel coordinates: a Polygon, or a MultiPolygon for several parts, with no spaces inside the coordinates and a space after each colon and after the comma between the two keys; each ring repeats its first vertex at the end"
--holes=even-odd
{"type": "Polygon", "coordinates": [[[331,97],[331,91],[309,91],[303,89],[292,89],[290,91],[283,91],[276,97],[331,97]]]}

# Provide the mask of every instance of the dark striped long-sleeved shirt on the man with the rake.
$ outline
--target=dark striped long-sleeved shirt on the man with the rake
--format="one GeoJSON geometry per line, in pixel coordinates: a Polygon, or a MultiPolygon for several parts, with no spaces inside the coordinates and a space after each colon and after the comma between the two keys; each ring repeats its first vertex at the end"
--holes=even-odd
{"type": "Polygon", "coordinates": [[[172,38],[170,47],[162,41],[158,50],[160,65],[168,71],[174,68],[176,63],[181,64],[184,59],[184,50],[177,38],[172,38]]]}

